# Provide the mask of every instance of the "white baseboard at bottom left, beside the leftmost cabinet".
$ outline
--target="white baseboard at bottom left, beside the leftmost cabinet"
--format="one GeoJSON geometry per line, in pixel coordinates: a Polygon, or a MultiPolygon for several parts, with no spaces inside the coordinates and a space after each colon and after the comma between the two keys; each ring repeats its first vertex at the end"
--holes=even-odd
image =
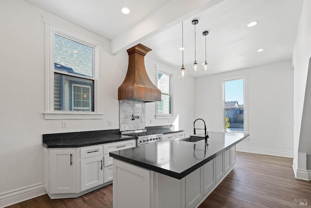
{"type": "Polygon", "coordinates": [[[43,183],[0,193],[0,208],[14,205],[46,193],[43,183]]]}

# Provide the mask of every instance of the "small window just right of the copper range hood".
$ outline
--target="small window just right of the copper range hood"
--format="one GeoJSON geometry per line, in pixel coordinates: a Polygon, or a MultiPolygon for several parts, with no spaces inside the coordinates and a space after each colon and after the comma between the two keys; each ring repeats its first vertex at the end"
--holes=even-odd
{"type": "Polygon", "coordinates": [[[157,102],[157,115],[172,115],[172,75],[157,72],[157,87],[161,91],[161,101],[157,102]]]}

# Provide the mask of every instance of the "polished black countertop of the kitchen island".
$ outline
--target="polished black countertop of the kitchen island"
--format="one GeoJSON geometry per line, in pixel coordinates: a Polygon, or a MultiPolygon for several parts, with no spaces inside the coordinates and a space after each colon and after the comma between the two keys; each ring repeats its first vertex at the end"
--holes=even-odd
{"type": "MultiPolygon", "coordinates": [[[[109,155],[121,161],[181,179],[222,152],[249,136],[248,133],[209,132],[205,140],[186,142],[167,140],[113,151],[109,155]]],[[[204,136],[197,134],[196,136],[204,136]]]]}

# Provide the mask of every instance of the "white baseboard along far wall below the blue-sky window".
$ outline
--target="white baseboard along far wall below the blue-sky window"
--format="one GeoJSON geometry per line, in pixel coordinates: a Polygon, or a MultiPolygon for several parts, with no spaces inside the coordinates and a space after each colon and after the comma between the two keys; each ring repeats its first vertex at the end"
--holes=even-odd
{"type": "Polygon", "coordinates": [[[264,149],[264,148],[244,147],[244,146],[238,146],[238,145],[236,146],[236,148],[237,148],[237,151],[294,158],[293,151],[271,150],[271,149],[264,149]]]}

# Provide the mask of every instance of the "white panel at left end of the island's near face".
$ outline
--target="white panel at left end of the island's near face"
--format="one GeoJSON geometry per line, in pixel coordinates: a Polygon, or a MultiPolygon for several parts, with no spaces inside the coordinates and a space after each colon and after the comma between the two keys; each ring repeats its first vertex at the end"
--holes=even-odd
{"type": "Polygon", "coordinates": [[[116,159],[113,169],[113,208],[150,208],[150,171],[116,159]]]}

